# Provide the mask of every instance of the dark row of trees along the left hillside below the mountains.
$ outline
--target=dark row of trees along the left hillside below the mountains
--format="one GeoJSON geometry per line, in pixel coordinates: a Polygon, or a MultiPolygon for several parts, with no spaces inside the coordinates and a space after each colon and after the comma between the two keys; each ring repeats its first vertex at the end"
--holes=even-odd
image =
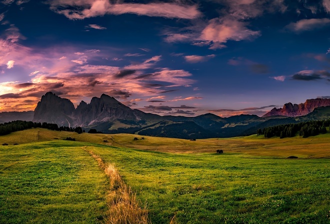
{"type": "Polygon", "coordinates": [[[36,127],[41,127],[41,128],[47,128],[50,130],[58,130],[58,131],[71,131],[71,132],[77,132],[77,133],[82,133],[84,130],[82,130],[81,127],[67,127],[67,126],[60,126],[58,127],[57,124],[55,123],[40,123],[40,122],[32,122],[32,121],[24,121],[24,120],[15,120],[15,121],[10,121],[10,122],[5,122],[5,123],[0,123],[0,135],[5,135],[9,134],[14,131],[18,130],[25,130],[29,128],[36,128],[36,127]]]}

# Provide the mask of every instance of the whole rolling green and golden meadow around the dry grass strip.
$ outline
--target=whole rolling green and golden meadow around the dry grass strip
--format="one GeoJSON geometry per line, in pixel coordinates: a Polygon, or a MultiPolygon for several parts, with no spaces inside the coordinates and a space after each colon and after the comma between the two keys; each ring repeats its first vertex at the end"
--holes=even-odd
{"type": "Polygon", "coordinates": [[[0,223],[106,222],[109,179],[88,151],[115,164],[152,223],[330,222],[328,133],[141,137],[41,128],[0,136],[0,223]]]}

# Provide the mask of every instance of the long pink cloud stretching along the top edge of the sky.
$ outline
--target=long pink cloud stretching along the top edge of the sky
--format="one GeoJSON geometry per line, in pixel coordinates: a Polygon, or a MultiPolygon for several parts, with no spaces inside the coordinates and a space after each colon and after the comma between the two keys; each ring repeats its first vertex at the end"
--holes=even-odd
{"type": "Polygon", "coordinates": [[[84,19],[105,14],[125,14],[158,16],[165,18],[193,19],[200,16],[197,5],[167,2],[113,3],[108,0],[50,0],[50,8],[69,19],[84,19]]]}

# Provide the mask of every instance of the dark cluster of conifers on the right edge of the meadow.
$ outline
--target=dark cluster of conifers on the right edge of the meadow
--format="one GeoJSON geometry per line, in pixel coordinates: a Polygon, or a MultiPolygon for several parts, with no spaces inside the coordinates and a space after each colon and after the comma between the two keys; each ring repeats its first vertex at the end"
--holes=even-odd
{"type": "Polygon", "coordinates": [[[281,124],[271,127],[258,129],[257,134],[263,134],[265,137],[277,136],[293,137],[299,132],[299,136],[308,137],[315,136],[319,133],[326,133],[326,127],[330,125],[330,119],[327,120],[312,120],[300,123],[281,124]]]}

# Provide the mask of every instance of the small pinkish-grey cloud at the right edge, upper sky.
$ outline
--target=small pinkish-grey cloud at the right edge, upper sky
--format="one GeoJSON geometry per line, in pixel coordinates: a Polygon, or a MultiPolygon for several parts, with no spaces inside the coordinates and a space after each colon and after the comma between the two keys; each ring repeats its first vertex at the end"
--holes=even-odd
{"type": "Polygon", "coordinates": [[[312,29],[319,29],[330,24],[329,18],[310,18],[301,19],[297,22],[291,22],[284,28],[293,32],[302,32],[312,29]]]}

